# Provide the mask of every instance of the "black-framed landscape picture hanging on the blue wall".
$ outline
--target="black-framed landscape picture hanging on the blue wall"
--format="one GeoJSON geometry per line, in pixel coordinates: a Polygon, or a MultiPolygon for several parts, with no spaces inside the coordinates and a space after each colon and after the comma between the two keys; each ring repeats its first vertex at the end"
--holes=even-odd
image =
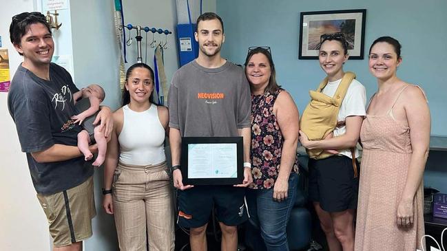
{"type": "Polygon", "coordinates": [[[318,59],[324,34],[342,35],[348,42],[350,59],[364,58],[366,9],[301,12],[299,59],[318,59]]]}

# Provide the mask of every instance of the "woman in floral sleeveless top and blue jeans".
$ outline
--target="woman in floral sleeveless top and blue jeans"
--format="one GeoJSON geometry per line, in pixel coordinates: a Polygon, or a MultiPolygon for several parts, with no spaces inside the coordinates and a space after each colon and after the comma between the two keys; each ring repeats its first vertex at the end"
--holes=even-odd
{"type": "Polygon", "coordinates": [[[276,83],[269,47],[249,48],[245,73],[251,87],[249,208],[256,207],[267,250],[289,250],[286,226],[298,186],[298,109],[276,83]]]}

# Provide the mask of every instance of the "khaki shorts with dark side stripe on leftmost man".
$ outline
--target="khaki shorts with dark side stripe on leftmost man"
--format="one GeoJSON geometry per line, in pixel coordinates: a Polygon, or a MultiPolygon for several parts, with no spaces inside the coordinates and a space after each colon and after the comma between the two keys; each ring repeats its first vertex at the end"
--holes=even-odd
{"type": "Polygon", "coordinates": [[[47,216],[55,247],[71,245],[92,236],[92,218],[96,215],[93,176],[60,193],[37,194],[37,199],[47,216]]]}

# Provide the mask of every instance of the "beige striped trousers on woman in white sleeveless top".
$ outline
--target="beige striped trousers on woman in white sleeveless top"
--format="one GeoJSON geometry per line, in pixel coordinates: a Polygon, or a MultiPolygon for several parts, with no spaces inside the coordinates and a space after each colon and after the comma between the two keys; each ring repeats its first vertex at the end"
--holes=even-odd
{"type": "Polygon", "coordinates": [[[174,250],[174,198],[166,162],[119,163],[113,182],[115,225],[121,251],[174,250]]]}

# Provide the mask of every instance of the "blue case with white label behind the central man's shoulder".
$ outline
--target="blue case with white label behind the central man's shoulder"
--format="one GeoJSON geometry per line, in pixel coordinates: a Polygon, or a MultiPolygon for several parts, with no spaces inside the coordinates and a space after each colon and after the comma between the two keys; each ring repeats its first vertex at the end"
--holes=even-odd
{"type": "Polygon", "coordinates": [[[178,57],[180,67],[193,61],[198,56],[198,43],[194,39],[196,23],[185,23],[177,25],[178,57]]]}

